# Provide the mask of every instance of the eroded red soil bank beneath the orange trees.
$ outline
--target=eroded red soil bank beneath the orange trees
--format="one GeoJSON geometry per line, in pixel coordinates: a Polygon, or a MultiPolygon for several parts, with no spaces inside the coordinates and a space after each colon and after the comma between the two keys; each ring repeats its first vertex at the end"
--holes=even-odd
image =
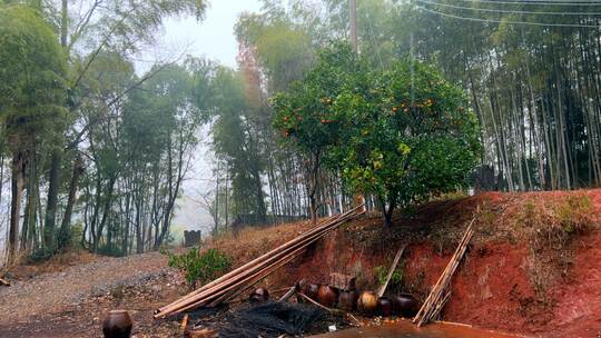
{"type": "MultiPolygon", "coordinates": [[[[453,278],[444,320],[526,336],[601,335],[601,190],[435,201],[400,213],[392,228],[368,215],[328,235],[265,285],[327,282],[331,272],[341,272],[357,276],[362,289],[375,289],[378,269],[408,243],[402,281],[392,291],[425,299],[474,213],[476,235],[453,278]]],[[[235,259],[243,262],[307,227],[248,229],[210,246],[240,252],[235,259]]]]}

